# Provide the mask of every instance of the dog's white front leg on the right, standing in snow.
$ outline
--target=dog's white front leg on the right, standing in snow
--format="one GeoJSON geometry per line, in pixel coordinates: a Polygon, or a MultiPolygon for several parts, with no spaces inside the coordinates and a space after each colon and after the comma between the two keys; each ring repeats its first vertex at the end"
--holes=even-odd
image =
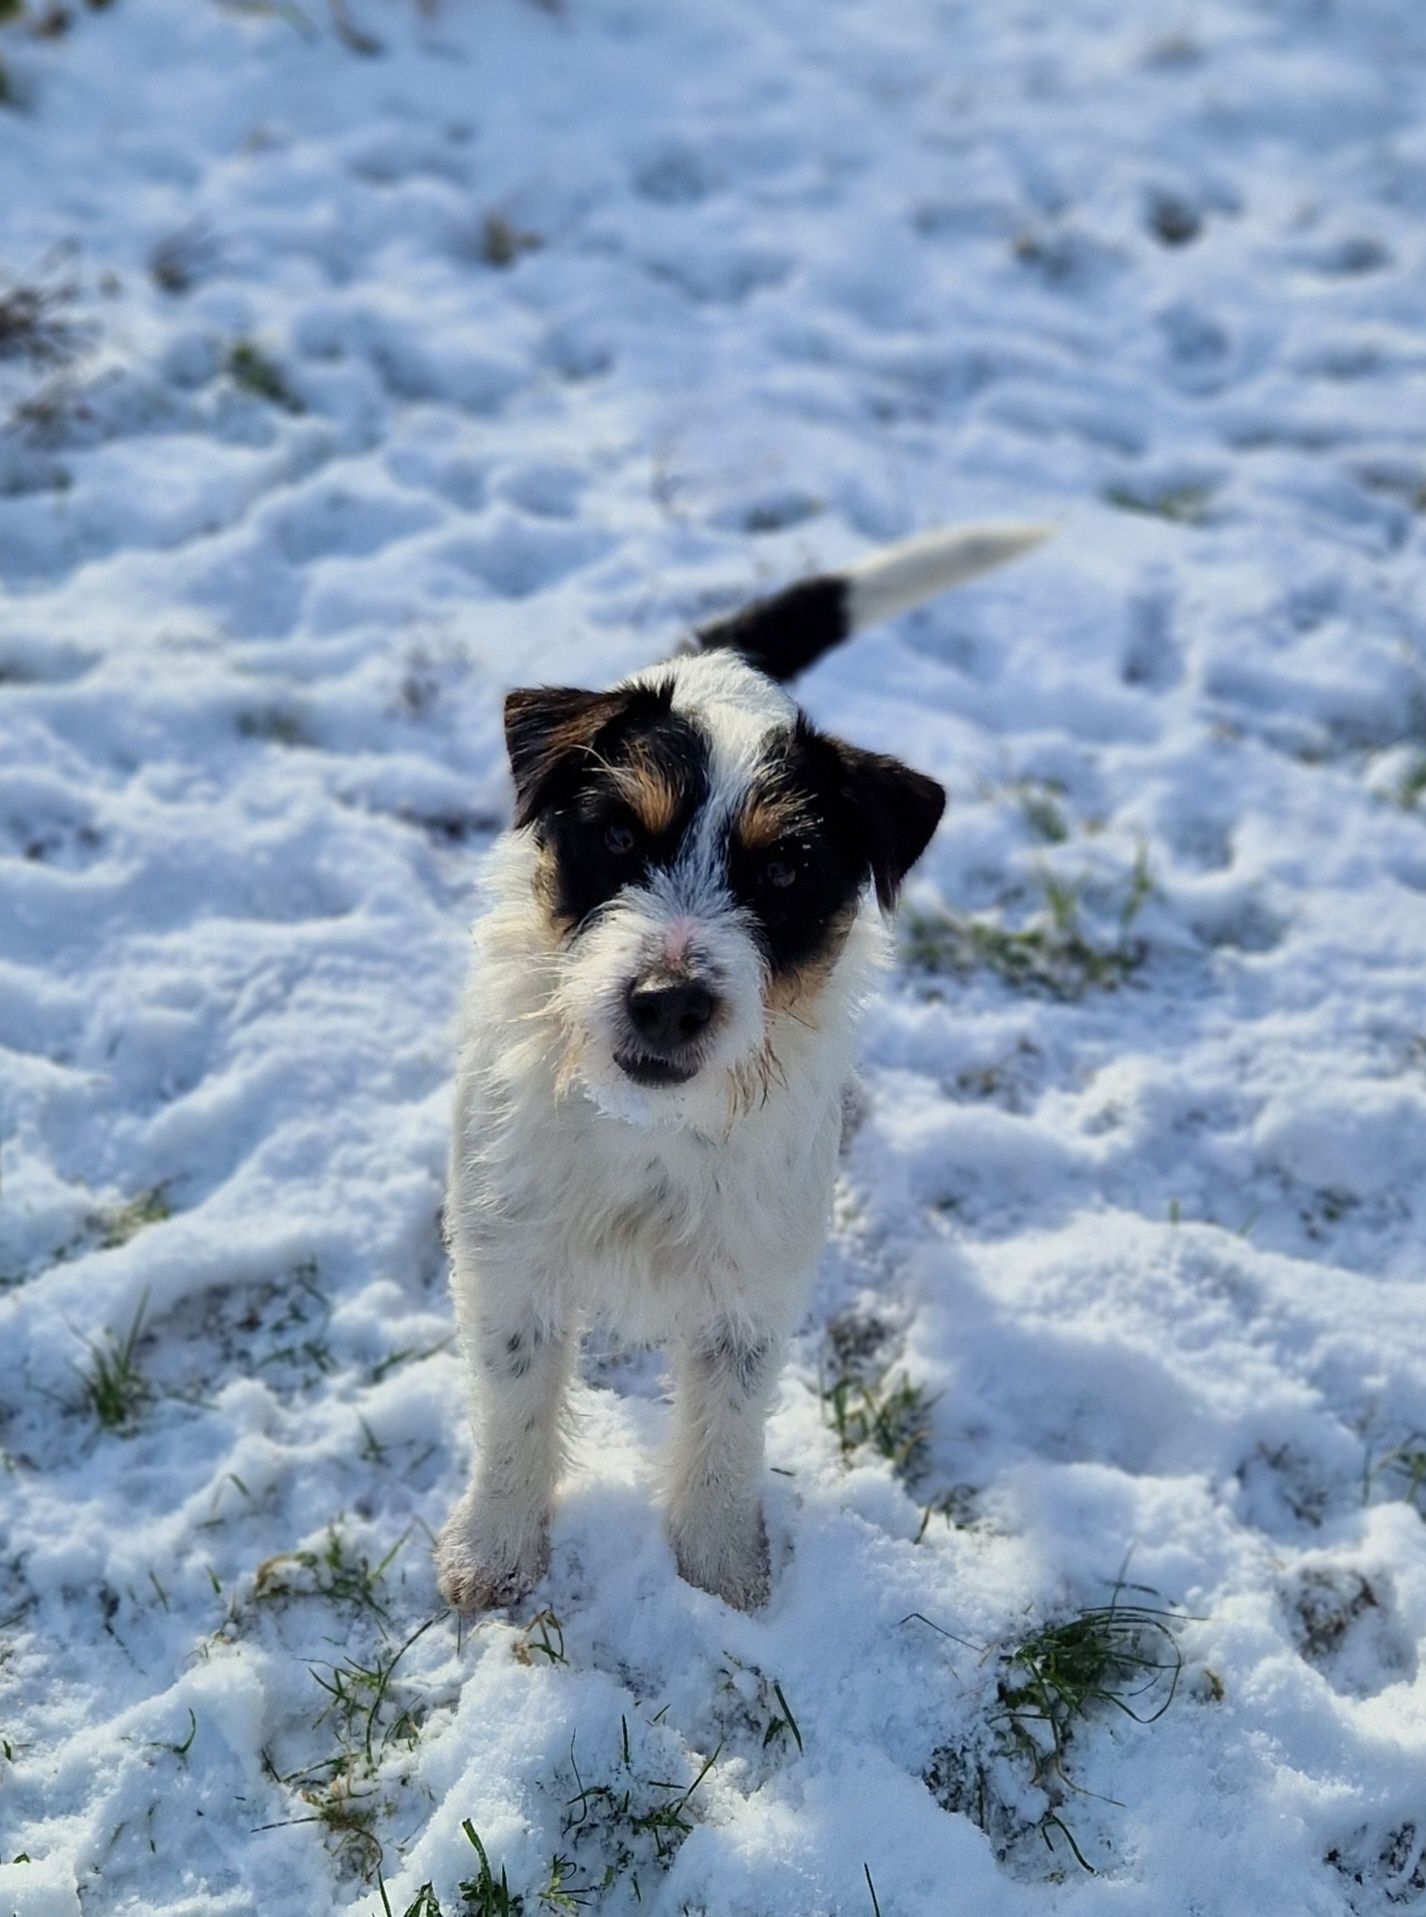
{"type": "Polygon", "coordinates": [[[780,1338],[732,1328],[678,1348],[669,1537],[680,1576],[738,1610],[769,1591],[757,1491],[780,1359],[780,1338]]]}

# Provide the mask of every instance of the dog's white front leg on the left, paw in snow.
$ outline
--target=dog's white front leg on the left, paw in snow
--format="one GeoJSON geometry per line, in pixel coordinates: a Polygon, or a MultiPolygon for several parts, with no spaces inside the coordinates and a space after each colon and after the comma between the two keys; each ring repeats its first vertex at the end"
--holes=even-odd
{"type": "Polygon", "coordinates": [[[514,1605],[550,1562],[573,1340],[529,1311],[472,1307],[470,1315],[462,1344],[472,1367],[475,1467],[441,1530],[435,1562],[447,1603],[487,1610],[514,1605]]]}

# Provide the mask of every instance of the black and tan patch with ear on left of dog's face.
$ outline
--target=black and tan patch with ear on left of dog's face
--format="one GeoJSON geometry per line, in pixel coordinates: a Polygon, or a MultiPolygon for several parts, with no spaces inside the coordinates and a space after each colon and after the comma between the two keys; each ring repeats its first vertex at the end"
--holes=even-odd
{"type": "Polygon", "coordinates": [[[512,698],[546,702],[514,719],[506,707],[518,822],[533,822],[550,851],[550,909],[577,930],[625,886],[673,865],[707,797],[707,740],[671,709],[671,684],[512,698]],[[527,790],[521,761],[537,767],[527,790]]]}

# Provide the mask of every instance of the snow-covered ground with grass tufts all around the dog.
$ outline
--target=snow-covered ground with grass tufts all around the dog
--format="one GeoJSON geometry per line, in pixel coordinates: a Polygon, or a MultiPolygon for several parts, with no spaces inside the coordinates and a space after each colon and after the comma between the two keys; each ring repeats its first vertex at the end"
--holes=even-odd
{"type": "Polygon", "coordinates": [[[2,1917],[489,1917],[464,1823],[525,1917],[1426,1909],[1420,0],[67,12],[0,31],[2,1917]],[[953,803],[772,1603],[677,1580],[602,1351],[462,1637],[500,692],[995,514],[1064,531],[803,686],[953,803]]]}

